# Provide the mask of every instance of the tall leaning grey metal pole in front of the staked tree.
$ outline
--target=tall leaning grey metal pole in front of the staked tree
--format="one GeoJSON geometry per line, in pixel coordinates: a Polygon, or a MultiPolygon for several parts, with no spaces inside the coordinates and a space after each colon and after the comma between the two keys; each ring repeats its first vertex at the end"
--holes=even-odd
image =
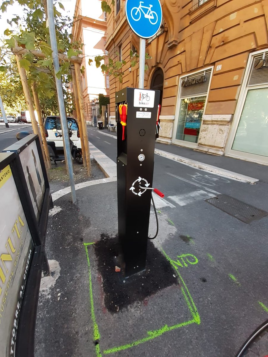
{"type": "Polygon", "coordinates": [[[59,54],[58,54],[58,46],[56,40],[55,22],[54,22],[53,0],[47,0],[47,4],[48,4],[48,27],[49,27],[50,43],[52,48],[52,58],[54,64],[56,89],[58,95],[60,122],[61,122],[61,129],[63,133],[63,145],[64,145],[65,157],[67,160],[68,174],[70,178],[71,196],[72,196],[73,203],[75,203],[76,193],[75,193],[75,186],[74,186],[74,172],[73,172],[73,163],[71,157],[71,149],[69,144],[69,130],[67,126],[66,111],[64,106],[62,82],[61,79],[58,79],[56,76],[56,74],[60,70],[60,64],[59,64],[59,54]]]}

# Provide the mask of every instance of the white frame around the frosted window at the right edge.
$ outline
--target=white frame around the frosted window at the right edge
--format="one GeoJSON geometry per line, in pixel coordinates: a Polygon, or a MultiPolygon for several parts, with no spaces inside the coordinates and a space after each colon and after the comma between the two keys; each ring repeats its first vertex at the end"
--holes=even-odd
{"type": "Polygon", "coordinates": [[[268,49],[260,50],[256,52],[252,52],[249,54],[248,64],[245,69],[244,79],[240,90],[240,95],[238,98],[237,106],[234,112],[233,122],[230,128],[229,136],[227,139],[227,143],[225,145],[224,154],[226,156],[235,157],[235,159],[244,159],[246,161],[257,162],[258,164],[268,165],[268,157],[257,155],[257,154],[250,154],[249,152],[233,150],[233,142],[235,139],[235,134],[237,132],[238,124],[240,121],[240,117],[244,108],[245,99],[247,97],[248,91],[252,89],[261,89],[261,88],[268,88],[268,83],[265,85],[255,85],[255,86],[248,86],[249,76],[252,69],[252,64],[254,61],[254,56],[258,54],[262,54],[263,52],[267,52],[268,49]]]}

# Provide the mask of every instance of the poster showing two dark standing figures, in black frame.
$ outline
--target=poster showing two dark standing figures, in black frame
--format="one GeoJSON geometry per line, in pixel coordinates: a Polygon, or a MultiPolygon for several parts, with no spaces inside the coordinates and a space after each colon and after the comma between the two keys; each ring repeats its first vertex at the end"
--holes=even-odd
{"type": "Polygon", "coordinates": [[[45,180],[36,142],[33,141],[20,153],[25,179],[30,192],[36,219],[39,221],[44,200],[45,180]]]}

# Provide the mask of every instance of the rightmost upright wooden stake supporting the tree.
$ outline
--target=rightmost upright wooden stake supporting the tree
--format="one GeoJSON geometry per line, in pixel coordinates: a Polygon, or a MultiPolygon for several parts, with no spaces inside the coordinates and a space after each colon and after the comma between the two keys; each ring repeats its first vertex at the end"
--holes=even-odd
{"type": "Polygon", "coordinates": [[[90,176],[91,162],[90,162],[90,153],[89,153],[88,131],[87,131],[87,127],[86,127],[84,97],[83,97],[80,65],[78,63],[75,63],[74,69],[75,69],[75,76],[76,76],[76,85],[77,85],[77,89],[78,89],[78,100],[79,100],[79,109],[80,109],[80,114],[81,114],[81,124],[83,127],[83,139],[84,139],[85,153],[86,153],[86,167],[88,169],[88,175],[90,176]]]}

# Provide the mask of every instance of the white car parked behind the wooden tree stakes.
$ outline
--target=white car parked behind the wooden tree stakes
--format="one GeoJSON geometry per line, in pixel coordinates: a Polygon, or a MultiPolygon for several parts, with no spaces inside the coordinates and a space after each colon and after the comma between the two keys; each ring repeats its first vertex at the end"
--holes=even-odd
{"type": "MultiPolygon", "coordinates": [[[[71,141],[73,141],[74,145],[81,149],[81,140],[80,140],[80,133],[78,129],[78,124],[74,118],[67,117],[68,127],[71,129],[73,135],[71,136],[71,141]]],[[[56,136],[56,133],[53,129],[56,129],[58,132],[62,133],[61,124],[60,124],[60,117],[50,115],[47,116],[45,119],[45,133],[46,133],[46,140],[47,141],[54,141],[57,150],[63,150],[63,137],[56,136]]]]}

